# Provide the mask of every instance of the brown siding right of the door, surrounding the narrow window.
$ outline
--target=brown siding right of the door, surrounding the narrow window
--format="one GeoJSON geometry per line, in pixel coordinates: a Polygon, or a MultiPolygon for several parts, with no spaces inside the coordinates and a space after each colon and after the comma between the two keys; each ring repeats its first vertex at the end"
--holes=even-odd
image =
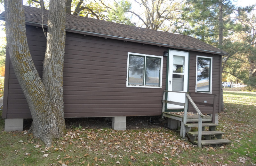
{"type": "MultiPolygon", "coordinates": [[[[200,52],[189,52],[189,92],[196,91],[196,56],[212,57],[212,94],[217,94],[216,96],[216,112],[220,109],[220,55],[200,53],[200,52]]],[[[212,104],[213,96],[204,94],[190,94],[192,99],[197,102],[204,102],[212,104]]],[[[197,105],[202,113],[212,113],[212,107],[197,105]]],[[[194,112],[194,108],[189,105],[189,111],[194,112]]]]}

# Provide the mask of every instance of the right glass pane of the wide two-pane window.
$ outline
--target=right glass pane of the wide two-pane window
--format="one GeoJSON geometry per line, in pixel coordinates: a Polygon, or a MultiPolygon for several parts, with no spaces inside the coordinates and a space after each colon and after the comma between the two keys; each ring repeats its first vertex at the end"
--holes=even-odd
{"type": "Polygon", "coordinates": [[[159,86],[160,59],[149,58],[146,60],[146,85],[159,86]]]}

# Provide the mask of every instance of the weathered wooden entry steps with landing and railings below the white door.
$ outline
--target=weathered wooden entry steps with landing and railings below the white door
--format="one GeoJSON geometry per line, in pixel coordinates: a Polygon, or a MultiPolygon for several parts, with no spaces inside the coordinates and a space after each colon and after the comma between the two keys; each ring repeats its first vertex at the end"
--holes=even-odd
{"type": "MultiPolygon", "coordinates": [[[[231,143],[230,140],[222,139],[222,135],[225,133],[221,131],[216,131],[216,127],[218,126],[218,124],[212,123],[212,122],[215,122],[215,112],[214,112],[215,111],[215,94],[211,94],[213,95],[213,104],[208,104],[203,102],[194,102],[188,94],[191,92],[179,92],[179,93],[186,93],[185,104],[184,104],[184,103],[165,100],[166,92],[173,92],[173,91],[164,91],[163,100],[162,100],[163,102],[162,115],[164,117],[168,117],[168,118],[172,118],[180,121],[180,136],[182,138],[185,138],[185,135],[187,133],[192,143],[196,144],[199,148],[201,148],[202,145],[218,145],[218,144],[231,143]],[[191,105],[196,110],[197,116],[191,117],[187,115],[188,102],[190,102],[191,105]],[[170,115],[169,113],[164,112],[166,103],[184,106],[183,116],[170,115]],[[204,116],[201,113],[201,111],[198,109],[196,104],[213,107],[212,117],[204,116]],[[197,127],[198,131],[191,132],[191,127],[197,127]],[[203,140],[202,140],[202,136],[204,137],[203,140]]],[[[177,91],[175,92],[177,93],[177,91]]],[[[196,93],[196,94],[202,94],[202,93],[196,93]]]]}

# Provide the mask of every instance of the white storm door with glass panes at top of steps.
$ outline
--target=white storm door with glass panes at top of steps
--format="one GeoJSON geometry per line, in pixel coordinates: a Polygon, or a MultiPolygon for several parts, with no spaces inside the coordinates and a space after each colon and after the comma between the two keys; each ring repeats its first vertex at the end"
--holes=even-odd
{"type": "MultiPolygon", "coordinates": [[[[188,52],[169,52],[168,91],[188,92],[188,52]]],[[[168,92],[168,101],[185,103],[185,93],[168,92]]],[[[184,109],[184,106],[167,104],[167,109],[184,109]]]]}

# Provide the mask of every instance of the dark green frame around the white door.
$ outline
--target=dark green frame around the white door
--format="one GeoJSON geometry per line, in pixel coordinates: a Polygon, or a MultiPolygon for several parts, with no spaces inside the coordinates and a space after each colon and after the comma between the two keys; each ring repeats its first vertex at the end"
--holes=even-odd
{"type": "MultiPolygon", "coordinates": [[[[188,84],[187,84],[187,91],[188,91],[188,87],[189,87],[189,51],[184,51],[184,50],[180,50],[180,49],[168,49],[168,57],[167,57],[167,65],[166,65],[166,90],[168,90],[169,87],[169,69],[170,69],[170,51],[177,51],[177,52],[184,52],[184,53],[188,53],[188,84]]],[[[168,99],[168,93],[165,94],[165,98],[168,99]]],[[[185,101],[184,101],[185,102],[185,101]]],[[[184,109],[167,109],[167,104],[165,104],[165,112],[180,112],[180,111],[184,111],[184,109]]]]}

